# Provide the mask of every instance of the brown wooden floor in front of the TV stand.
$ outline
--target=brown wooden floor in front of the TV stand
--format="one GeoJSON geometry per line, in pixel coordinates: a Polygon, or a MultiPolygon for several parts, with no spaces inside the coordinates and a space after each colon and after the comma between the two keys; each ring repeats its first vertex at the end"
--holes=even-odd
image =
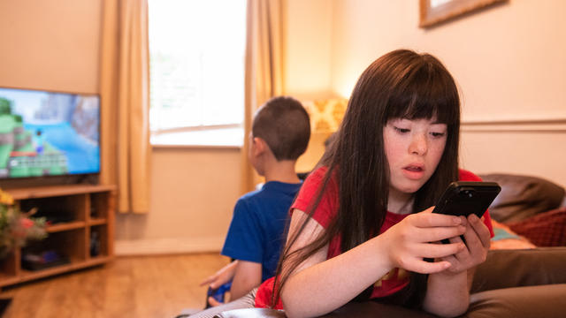
{"type": "Polygon", "coordinates": [[[5,287],[12,297],[3,318],[174,317],[202,308],[198,284],[226,265],[215,254],[119,257],[111,263],[41,281],[5,287]]]}

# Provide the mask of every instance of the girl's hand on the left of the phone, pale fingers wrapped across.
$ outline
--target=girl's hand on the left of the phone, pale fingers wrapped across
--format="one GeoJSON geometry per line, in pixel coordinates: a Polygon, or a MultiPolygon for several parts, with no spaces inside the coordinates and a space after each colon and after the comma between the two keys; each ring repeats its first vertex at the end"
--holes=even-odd
{"type": "Polygon", "coordinates": [[[449,259],[450,255],[461,254],[466,248],[462,240],[451,241],[450,244],[431,243],[458,238],[465,235],[467,230],[462,218],[433,214],[433,208],[405,217],[380,235],[381,239],[387,241],[386,255],[389,256],[392,268],[421,274],[437,273],[452,266],[454,260],[449,259]],[[424,258],[441,261],[429,262],[424,261],[424,258]]]}

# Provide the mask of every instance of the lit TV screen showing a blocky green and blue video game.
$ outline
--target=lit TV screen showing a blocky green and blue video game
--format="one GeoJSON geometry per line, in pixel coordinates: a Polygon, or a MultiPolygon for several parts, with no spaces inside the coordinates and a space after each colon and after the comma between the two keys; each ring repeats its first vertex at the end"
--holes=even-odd
{"type": "Polygon", "coordinates": [[[100,171],[100,97],[0,87],[0,178],[100,171]]]}

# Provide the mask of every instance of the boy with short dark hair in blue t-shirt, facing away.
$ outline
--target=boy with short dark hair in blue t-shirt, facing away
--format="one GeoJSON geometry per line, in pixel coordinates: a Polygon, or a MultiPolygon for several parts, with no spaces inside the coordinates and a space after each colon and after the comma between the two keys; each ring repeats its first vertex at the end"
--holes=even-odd
{"type": "MultiPolygon", "coordinates": [[[[309,114],[294,98],[274,97],[256,111],[248,157],[265,184],[236,202],[221,252],[235,261],[203,284],[216,289],[233,277],[231,299],[239,299],[275,274],[288,211],[302,185],[294,165],[309,139],[309,114]]],[[[212,297],[208,302],[220,304],[212,297]]]]}

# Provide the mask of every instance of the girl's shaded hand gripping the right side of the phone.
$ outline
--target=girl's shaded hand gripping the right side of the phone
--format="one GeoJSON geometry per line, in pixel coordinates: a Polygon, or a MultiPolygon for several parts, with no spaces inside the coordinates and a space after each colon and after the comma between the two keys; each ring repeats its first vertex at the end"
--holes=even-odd
{"type": "MultiPolygon", "coordinates": [[[[466,240],[465,246],[460,252],[442,258],[443,261],[449,261],[452,264],[447,271],[450,273],[460,273],[464,270],[471,269],[482,262],[486,261],[487,251],[491,242],[489,229],[478,216],[471,214],[466,219],[461,216],[466,231],[463,238],[466,240]]],[[[450,239],[450,243],[463,243],[459,236],[450,239]]]]}

